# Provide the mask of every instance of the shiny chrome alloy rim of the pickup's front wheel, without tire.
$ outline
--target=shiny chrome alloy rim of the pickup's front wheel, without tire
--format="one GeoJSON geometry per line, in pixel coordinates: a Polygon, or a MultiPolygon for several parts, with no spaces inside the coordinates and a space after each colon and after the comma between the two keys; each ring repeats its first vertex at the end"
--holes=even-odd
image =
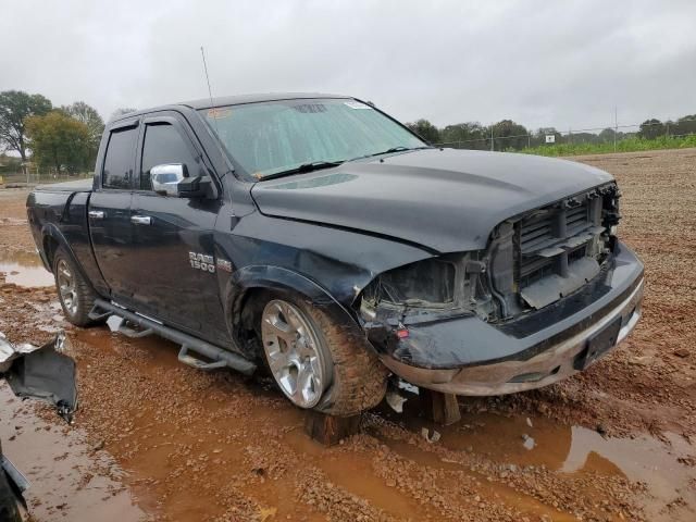
{"type": "Polygon", "coordinates": [[[269,366],[283,393],[300,408],[316,406],[331,371],[304,313],[281,299],[270,301],[261,318],[261,338],[269,366]]]}

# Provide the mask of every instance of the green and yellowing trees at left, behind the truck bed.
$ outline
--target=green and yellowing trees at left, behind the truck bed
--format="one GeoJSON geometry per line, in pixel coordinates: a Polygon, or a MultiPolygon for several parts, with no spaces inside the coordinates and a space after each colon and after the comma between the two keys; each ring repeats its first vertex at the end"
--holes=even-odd
{"type": "MultiPolygon", "coordinates": [[[[132,111],[119,109],[114,116],[132,111]]],[[[33,166],[71,175],[91,170],[103,129],[99,112],[84,101],[54,107],[42,95],[0,92],[0,166],[7,170],[33,166]]]]}

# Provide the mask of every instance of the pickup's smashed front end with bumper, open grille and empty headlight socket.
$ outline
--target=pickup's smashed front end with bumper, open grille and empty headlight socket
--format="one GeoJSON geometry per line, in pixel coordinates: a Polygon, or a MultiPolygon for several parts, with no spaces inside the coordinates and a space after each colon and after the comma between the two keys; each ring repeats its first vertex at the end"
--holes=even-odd
{"type": "Polygon", "coordinates": [[[358,301],[368,338],[406,381],[460,395],[584,369],[639,318],[643,265],[616,237],[619,198],[605,184],[504,221],[485,250],[378,275],[358,301]]]}

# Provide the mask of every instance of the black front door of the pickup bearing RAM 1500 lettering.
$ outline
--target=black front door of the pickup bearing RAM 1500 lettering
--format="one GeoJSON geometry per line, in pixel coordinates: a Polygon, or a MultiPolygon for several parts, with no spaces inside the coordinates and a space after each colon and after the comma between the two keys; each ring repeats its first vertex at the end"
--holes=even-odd
{"type": "MultiPolygon", "coordinates": [[[[162,113],[159,113],[162,114],[162,113]]],[[[137,310],[195,332],[210,341],[227,339],[217,274],[213,228],[219,200],[163,196],[152,190],[150,170],[181,163],[191,176],[206,174],[192,132],[173,113],[144,120],[136,159],[139,186],[132,222],[137,266],[137,310]]]]}

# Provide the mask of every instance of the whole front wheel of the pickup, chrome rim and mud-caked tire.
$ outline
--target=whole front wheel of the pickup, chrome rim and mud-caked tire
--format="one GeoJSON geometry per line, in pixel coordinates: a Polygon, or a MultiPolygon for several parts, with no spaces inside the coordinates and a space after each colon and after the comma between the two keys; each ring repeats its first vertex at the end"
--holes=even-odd
{"type": "Polygon", "coordinates": [[[289,297],[271,299],[261,314],[269,369],[300,408],[349,417],[376,406],[388,371],[362,339],[346,335],[324,312],[289,297]]]}

